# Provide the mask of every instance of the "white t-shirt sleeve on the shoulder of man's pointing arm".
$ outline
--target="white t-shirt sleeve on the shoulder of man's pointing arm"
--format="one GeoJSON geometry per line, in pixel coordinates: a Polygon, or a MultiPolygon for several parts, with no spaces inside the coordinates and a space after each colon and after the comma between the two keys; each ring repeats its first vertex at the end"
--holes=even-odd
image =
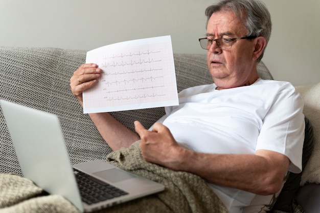
{"type": "Polygon", "coordinates": [[[270,150],[289,158],[289,171],[302,171],[305,121],[303,100],[294,87],[284,84],[263,119],[256,150],[270,150]]]}

